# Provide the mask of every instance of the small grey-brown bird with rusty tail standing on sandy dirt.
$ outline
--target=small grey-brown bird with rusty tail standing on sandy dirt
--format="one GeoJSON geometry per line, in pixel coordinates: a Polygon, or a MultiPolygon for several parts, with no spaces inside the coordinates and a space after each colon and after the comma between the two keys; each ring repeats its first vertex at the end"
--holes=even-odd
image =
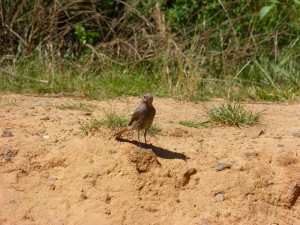
{"type": "Polygon", "coordinates": [[[122,133],[126,131],[137,130],[139,146],[141,147],[140,130],[145,130],[144,138],[145,138],[145,143],[147,144],[147,140],[146,140],[147,131],[151,127],[151,124],[153,122],[156,113],[156,110],[153,107],[152,102],[153,102],[153,95],[150,93],[145,94],[142,97],[141,104],[132,114],[128,126],[120,130],[119,132],[115,133],[114,136],[120,136],[122,133]]]}

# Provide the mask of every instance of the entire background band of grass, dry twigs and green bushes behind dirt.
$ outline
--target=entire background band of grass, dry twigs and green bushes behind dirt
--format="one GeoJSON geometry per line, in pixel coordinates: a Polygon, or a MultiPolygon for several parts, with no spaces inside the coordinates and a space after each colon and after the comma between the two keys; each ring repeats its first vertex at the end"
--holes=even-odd
{"type": "Polygon", "coordinates": [[[0,16],[0,92],[299,96],[299,0],[4,0],[0,16]]]}

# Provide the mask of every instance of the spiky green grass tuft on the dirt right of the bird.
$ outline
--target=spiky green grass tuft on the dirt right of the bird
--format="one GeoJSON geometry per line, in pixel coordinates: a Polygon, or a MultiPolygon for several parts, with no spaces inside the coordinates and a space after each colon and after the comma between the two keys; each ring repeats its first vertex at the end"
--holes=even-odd
{"type": "Polygon", "coordinates": [[[205,109],[205,112],[210,122],[237,127],[257,124],[262,115],[262,112],[254,113],[235,102],[213,106],[205,109]]]}

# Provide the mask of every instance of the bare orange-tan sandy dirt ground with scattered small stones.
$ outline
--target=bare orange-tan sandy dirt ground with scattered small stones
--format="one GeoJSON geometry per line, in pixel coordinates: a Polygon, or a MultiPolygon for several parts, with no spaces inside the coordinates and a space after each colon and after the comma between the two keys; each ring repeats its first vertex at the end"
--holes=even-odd
{"type": "Polygon", "coordinates": [[[266,110],[255,127],[189,128],[221,100],[155,98],[161,133],[142,149],[79,130],[139,102],[1,95],[0,224],[300,224],[299,103],[245,103],[266,110]],[[57,108],[73,103],[92,111],[57,108]]]}

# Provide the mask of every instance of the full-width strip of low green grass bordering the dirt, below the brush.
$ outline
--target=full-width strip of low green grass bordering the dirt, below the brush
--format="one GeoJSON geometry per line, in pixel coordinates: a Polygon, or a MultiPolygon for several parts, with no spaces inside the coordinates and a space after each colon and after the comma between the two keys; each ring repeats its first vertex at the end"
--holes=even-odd
{"type": "Polygon", "coordinates": [[[284,50],[276,62],[265,55],[227,62],[198,52],[197,46],[195,41],[189,51],[176,50],[175,58],[167,54],[163,60],[134,65],[119,59],[120,63],[100,63],[99,67],[99,60],[91,60],[88,54],[76,61],[63,59],[64,63],[43,55],[19,57],[16,63],[1,65],[0,92],[62,93],[93,99],[152,92],[158,97],[192,101],[212,97],[286,101],[299,96],[299,54],[293,48],[284,50]]]}

